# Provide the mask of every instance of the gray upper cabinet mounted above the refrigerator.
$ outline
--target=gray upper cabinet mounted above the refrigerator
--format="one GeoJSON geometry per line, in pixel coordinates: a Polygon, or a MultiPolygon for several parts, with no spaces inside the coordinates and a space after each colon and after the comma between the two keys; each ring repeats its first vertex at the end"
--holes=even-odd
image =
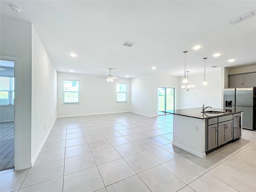
{"type": "Polygon", "coordinates": [[[237,74],[229,76],[228,87],[256,86],[256,73],[237,74]]]}

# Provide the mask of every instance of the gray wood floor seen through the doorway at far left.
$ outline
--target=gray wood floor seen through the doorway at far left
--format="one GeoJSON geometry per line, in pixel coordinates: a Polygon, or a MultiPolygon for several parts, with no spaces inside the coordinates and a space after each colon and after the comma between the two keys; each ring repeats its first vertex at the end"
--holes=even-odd
{"type": "Polygon", "coordinates": [[[0,123],[0,170],[14,168],[14,122],[0,123]]]}

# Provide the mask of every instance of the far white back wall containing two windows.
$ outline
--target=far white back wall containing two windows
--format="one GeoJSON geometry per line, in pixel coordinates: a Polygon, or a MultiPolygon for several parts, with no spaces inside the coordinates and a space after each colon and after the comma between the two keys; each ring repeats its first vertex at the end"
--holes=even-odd
{"type": "Polygon", "coordinates": [[[130,79],[121,78],[113,82],[98,79],[102,76],[58,72],[57,114],[74,116],[130,111],[130,79]],[[63,80],[80,81],[80,104],[63,104],[63,80]],[[116,102],[116,83],[127,83],[128,102],[116,102]]]}

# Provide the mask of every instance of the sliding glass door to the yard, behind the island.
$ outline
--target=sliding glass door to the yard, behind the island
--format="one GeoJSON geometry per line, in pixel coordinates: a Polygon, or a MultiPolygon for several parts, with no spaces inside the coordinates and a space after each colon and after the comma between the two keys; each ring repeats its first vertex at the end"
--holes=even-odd
{"type": "Polygon", "coordinates": [[[157,106],[158,115],[166,115],[166,112],[173,112],[175,106],[175,88],[158,87],[157,106]]]}

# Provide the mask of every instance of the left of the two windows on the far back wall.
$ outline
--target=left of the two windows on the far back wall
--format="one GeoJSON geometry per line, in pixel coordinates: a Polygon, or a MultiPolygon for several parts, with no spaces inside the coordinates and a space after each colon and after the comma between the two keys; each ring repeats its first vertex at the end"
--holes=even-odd
{"type": "Polygon", "coordinates": [[[64,80],[63,103],[79,103],[79,81],[64,80]]]}

